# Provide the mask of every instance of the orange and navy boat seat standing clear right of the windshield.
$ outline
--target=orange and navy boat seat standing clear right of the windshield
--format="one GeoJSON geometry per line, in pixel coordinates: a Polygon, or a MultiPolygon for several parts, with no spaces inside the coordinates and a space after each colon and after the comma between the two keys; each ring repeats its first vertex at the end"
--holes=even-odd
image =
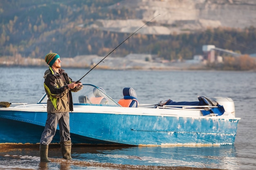
{"type": "Polygon", "coordinates": [[[119,100],[119,104],[123,107],[135,107],[139,106],[139,102],[137,100],[136,92],[133,88],[125,87],[123,89],[124,98],[119,100]]]}

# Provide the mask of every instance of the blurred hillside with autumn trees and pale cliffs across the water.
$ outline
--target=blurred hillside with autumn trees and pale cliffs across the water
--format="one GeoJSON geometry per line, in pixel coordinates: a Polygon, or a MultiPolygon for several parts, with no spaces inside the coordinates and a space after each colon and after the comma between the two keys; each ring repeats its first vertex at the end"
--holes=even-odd
{"type": "Polygon", "coordinates": [[[105,56],[155,16],[111,55],[191,59],[204,44],[255,53],[254,0],[1,0],[0,56],[105,56]]]}

